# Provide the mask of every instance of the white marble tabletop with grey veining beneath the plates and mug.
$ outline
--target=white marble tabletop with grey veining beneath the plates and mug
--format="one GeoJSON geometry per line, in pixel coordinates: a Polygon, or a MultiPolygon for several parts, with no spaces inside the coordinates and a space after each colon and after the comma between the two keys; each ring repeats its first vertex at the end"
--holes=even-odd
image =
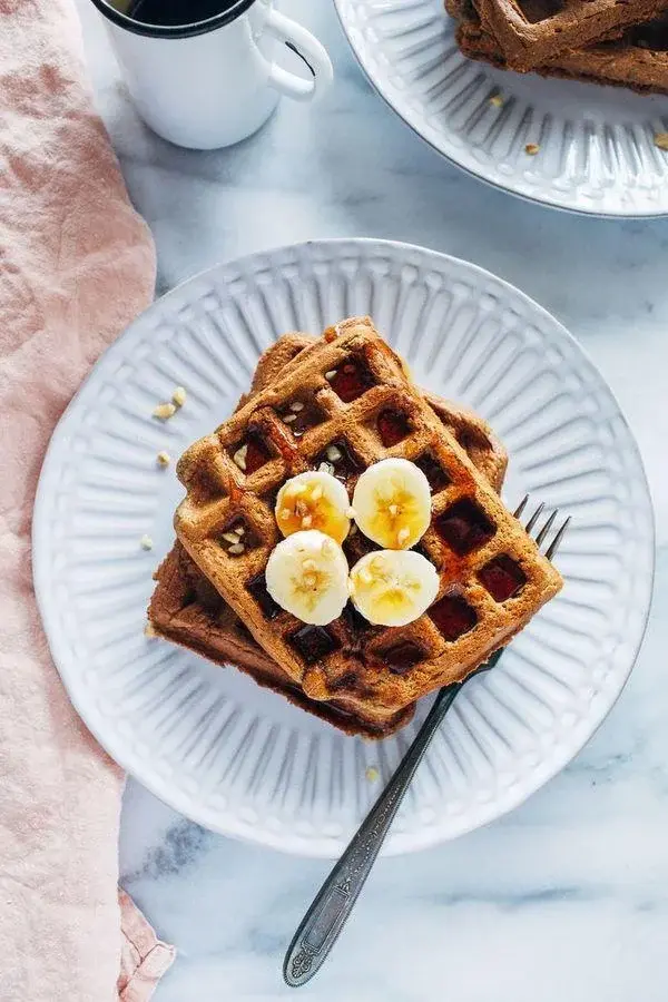
{"type": "MultiPolygon", "coordinates": [[[[285,0],[328,46],[317,114],[284,101],[235,149],[178,150],[139,122],[89,0],[100,110],[150,224],[159,291],[222,258],[322,236],[392,237],[510,279],[581,338],[639,439],[658,518],[649,635],[598,735],[503,821],[381,862],[317,1002],[665,1002],[668,941],[668,220],[524,205],[448,166],[372,92],[330,0],[285,0]]],[[[287,998],[281,960],[327,864],[210,835],[129,783],[124,883],[179,956],[157,1002],[287,998]]]]}

